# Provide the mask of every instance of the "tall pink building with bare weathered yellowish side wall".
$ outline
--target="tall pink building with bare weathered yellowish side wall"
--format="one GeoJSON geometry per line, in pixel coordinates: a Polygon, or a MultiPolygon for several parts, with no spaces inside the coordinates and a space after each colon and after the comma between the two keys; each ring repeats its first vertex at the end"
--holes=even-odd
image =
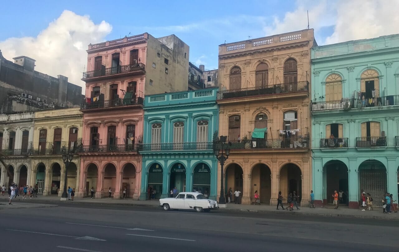
{"type": "Polygon", "coordinates": [[[143,98],[188,89],[189,47],[148,33],[89,45],[79,197],[138,199],[143,98]]]}

